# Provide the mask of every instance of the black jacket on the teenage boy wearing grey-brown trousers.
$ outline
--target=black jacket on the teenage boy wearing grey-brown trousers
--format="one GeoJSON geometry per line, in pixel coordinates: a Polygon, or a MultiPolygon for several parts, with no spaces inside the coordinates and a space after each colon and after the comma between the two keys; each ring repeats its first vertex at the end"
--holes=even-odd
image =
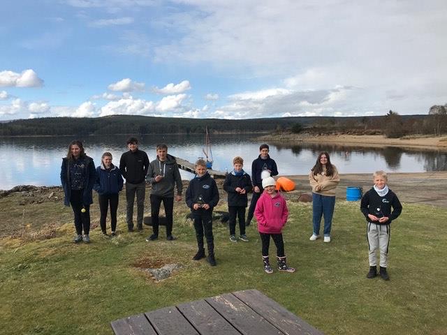
{"type": "Polygon", "coordinates": [[[126,183],[140,184],[145,181],[147,169],[149,169],[149,158],[142,150],[126,151],[119,160],[119,170],[126,183]]]}

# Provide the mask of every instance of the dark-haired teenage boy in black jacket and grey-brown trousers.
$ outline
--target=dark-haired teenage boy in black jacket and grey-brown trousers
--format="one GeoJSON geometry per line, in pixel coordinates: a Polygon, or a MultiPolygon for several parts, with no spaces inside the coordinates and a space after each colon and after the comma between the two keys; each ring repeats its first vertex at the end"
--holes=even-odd
{"type": "Polygon", "coordinates": [[[127,140],[129,151],[122,154],[119,160],[119,170],[126,179],[126,221],[129,232],[133,232],[133,202],[137,196],[137,228],[142,231],[142,216],[145,211],[145,177],[149,169],[149,158],[145,151],[138,149],[138,140],[129,137],[127,140]]]}

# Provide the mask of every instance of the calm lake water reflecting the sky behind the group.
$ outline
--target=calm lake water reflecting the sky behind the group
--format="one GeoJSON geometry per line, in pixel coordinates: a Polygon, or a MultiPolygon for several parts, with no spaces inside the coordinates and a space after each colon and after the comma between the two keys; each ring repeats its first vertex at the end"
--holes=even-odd
{"type": "MultiPolygon", "coordinates": [[[[168,144],[169,154],[188,161],[202,156],[204,136],[154,135],[140,140],[140,149],[145,150],[149,160],[155,158],[156,143],[168,144]]],[[[0,189],[16,185],[60,185],[61,158],[66,156],[72,137],[21,137],[0,138],[0,189]]],[[[126,136],[91,136],[84,140],[87,155],[99,165],[104,151],[113,154],[119,164],[126,151],[126,136]]],[[[244,170],[251,172],[251,161],[258,156],[258,142],[248,135],[214,135],[212,152],[215,170],[230,171],[234,156],[245,160],[244,170]]],[[[447,170],[446,151],[409,150],[394,147],[359,148],[333,144],[302,144],[300,146],[270,145],[270,156],[277,162],[280,175],[307,174],[316,161],[318,153],[328,151],[333,164],[340,173],[427,172],[447,170]]],[[[189,172],[182,172],[183,179],[191,179],[189,172]]]]}

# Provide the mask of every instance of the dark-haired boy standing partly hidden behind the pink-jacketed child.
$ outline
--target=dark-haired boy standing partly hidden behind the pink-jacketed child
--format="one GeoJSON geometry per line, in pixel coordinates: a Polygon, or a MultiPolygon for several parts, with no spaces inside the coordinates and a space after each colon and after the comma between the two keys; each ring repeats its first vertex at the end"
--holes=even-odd
{"type": "Polygon", "coordinates": [[[247,214],[247,223],[250,225],[253,218],[254,209],[256,208],[256,202],[263,194],[263,178],[261,174],[268,172],[266,177],[273,177],[278,175],[277,163],[268,155],[268,144],[261,144],[259,147],[259,156],[253,163],[251,163],[251,183],[253,184],[253,195],[251,196],[251,202],[249,207],[249,213],[247,214]]]}

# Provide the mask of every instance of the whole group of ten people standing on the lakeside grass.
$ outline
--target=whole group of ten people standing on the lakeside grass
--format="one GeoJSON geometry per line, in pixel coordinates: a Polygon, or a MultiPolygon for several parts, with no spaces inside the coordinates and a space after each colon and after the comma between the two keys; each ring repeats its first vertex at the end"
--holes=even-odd
{"type": "MultiPolygon", "coordinates": [[[[123,188],[123,177],[126,179],[126,223],[129,232],[133,232],[133,207],[137,200],[137,229],[142,231],[145,204],[146,183],[151,184],[150,193],[152,234],[146,241],[159,238],[161,203],[165,209],[166,239],[173,241],[173,207],[174,200],[182,200],[182,179],[175,157],[168,154],[166,144],[158,144],[156,158],[149,162],[145,151],[138,149],[138,140],[129,137],[129,151],[122,154],[119,168],[112,163],[112,154],[105,152],[101,157],[101,165],[97,168],[91,157],[85,154],[82,142],[75,140],[68,146],[68,153],[62,160],[61,184],[64,188],[64,204],[72,207],[75,221],[75,243],[89,242],[90,204],[93,203],[92,190],[98,193],[98,203],[101,211],[100,225],[104,235],[106,218],[110,208],[110,234],[115,236],[117,229],[117,207],[119,192],[123,188]],[[83,233],[83,234],[82,234],[83,233]]],[[[277,164],[269,156],[268,144],[259,148],[259,156],[251,164],[251,176],[244,172],[244,160],[240,156],[233,158],[233,171],[226,175],[223,190],[228,194],[228,213],[230,241],[248,242],[246,226],[256,218],[258,232],[262,244],[263,269],[272,274],[269,260],[270,238],[277,248],[277,269],[294,272],[288,267],[284,252],[282,230],[288,218],[286,200],[277,190],[274,176],[278,174],[277,164]],[[248,194],[252,192],[248,206],[248,194]],[[236,237],[236,223],[239,223],[239,236],[236,237]]],[[[212,232],[212,211],[219,202],[219,190],[214,179],[207,172],[203,159],[195,163],[196,176],[191,179],[186,189],[186,205],[191,209],[198,251],[193,260],[207,258],[210,265],[217,265],[214,256],[214,237],[212,232]],[[204,237],[207,242],[205,255],[204,237]]],[[[335,188],[339,184],[339,174],[335,165],[330,162],[328,152],[318,155],[314,167],[309,172],[309,184],[312,186],[312,221],[313,231],[311,241],[316,241],[320,235],[321,219],[324,220],[323,241],[331,240],[332,216],[335,208],[335,188]]],[[[367,220],[367,241],[369,250],[369,271],[367,278],[377,275],[376,251],[380,251],[379,274],[385,280],[389,279],[388,245],[390,239],[390,223],[402,211],[402,205],[397,195],[387,186],[386,172],[374,173],[374,186],[362,197],[360,209],[367,220]]]]}

